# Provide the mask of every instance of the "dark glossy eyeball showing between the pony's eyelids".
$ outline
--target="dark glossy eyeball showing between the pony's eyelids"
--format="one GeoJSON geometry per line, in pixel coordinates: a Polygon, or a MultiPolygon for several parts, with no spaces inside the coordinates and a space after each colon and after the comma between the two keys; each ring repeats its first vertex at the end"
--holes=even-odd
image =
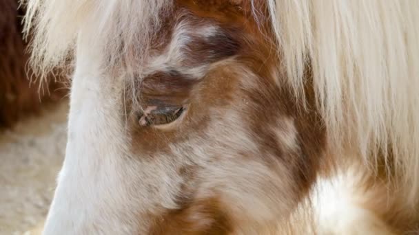
{"type": "Polygon", "coordinates": [[[183,107],[156,107],[147,115],[141,115],[141,118],[145,120],[145,126],[168,124],[180,117],[183,111],[183,107]]]}

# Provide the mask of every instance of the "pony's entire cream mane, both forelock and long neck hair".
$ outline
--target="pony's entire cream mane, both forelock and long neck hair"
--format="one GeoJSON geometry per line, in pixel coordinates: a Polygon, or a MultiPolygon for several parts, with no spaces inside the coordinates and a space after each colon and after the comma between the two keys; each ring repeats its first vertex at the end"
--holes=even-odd
{"type": "MultiPolygon", "coordinates": [[[[171,2],[29,1],[25,32],[35,32],[32,67],[43,74],[65,65],[77,36],[90,30],[90,40],[108,54],[103,63],[129,69],[147,53],[171,2]]],[[[419,193],[419,1],[267,0],[267,8],[283,60],[278,69],[287,71],[296,98],[305,98],[304,73],[311,70],[329,146],[370,162],[385,156],[414,199],[419,193]]]]}

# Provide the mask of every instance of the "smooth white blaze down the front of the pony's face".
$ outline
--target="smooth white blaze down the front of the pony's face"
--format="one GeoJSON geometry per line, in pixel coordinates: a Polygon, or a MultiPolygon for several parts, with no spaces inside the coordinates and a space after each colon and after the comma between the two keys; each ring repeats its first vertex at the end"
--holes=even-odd
{"type": "Polygon", "coordinates": [[[132,163],[126,160],[122,85],[99,73],[94,49],[79,48],[72,80],[68,144],[45,234],[132,234],[126,198],[132,163]]]}

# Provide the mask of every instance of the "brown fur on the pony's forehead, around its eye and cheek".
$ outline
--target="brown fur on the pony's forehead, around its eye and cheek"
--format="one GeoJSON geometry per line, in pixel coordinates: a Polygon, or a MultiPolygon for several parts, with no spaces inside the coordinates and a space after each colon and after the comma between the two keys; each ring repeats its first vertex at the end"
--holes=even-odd
{"type": "MultiPolygon", "coordinates": [[[[320,159],[325,148],[325,129],[322,120],[314,104],[307,104],[307,109],[302,109],[297,104],[294,94],[288,89],[285,78],[279,74],[275,76],[278,65],[276,54],[271,53],[273,41],[267,35],[271,35],[267,22],[258,22],[248,18],[249,2],[235,1],[178,1],[177,10],[185,17],[183,20],[192,22],[193,27],[216,25],[219,27],[214,37],[194,38],[187,45],[187,60],[183,61],[185,67],[194,67],[202,64],[214,64],[203,78],[191,79],[181,72],[157,71],[144,79],[141,88],[142,104],[187,104],[188,110],[185,118],[170,130],[161,131],[150,127],[132,126],[133,152],[141,157],[154,156],[171,157],[172,148],[189,142],[191,139],[205,139],[205,141],[218,145],[219,149],[225,150],[220,153],[212,153],[214,157],[207,157],[207,164],[217,164],[232,157],[228,152],[228,142],[215,140],[214,136],[208,136],[214,127],[214,123],[223,125],[235,125],[236,122],[245,126],[254,144],[257,146],[256,153],[245,151],[234,152],[234,156],[245,164],[247,161],[258,162],[272,171],[270,176],[283,177],[286,183],[284,192],[278,192],[280,198],[276,203],[284,202],[286,205],[278,205],[278,208],[292,210],[300,199],[309,192],[311,185],[316,179],[320,159]],[[185,11],[189,12],[185,14],[185,11]],[[189,18],[188,18],[189,17],[189,18]],[[197,21],[199,19],[199,21],[197,21]],[[263,27],[260,27],[260,23],[263,27]],[[231,58],[234,60],[216,64],[221,60],[231,58]],[[245,69],[241,69],[245,68],[245,69]],[[252,76],[249,76],[252,74],[252,76]],[[233,111],[239,113],[242,120],[229,120],[225,113],[233,111]],[[291,122],[292,130],[287,127],[287,120],[291,122]],[[295,130],[295,131],[294,131],[295,130]],[[286,143],[278,139],[280,135],[295,135],[295,148],[285,146],[286,143]],[[152,141],[145,141],[152,139],[152,141]],[[140,154],[141,153],[141,154],[140,154]],[[280,171],[279,169],[283,169],[280,171]],[[280,195],[279,195],[280,194],[280,195]]],[[[263,4],[258,5],[261,11],[267,11],[263,4]]],[[[176,18],[176,11],[173,19],[176,18]]],[[[167,23],[174,27],[175,23],[167,23]]],[[[192,27],[192,30],[193,30],[192,27]]],[[[173,28],[167,29],[172,32],[173,28]]],[[[170,36],[165,37],[165,42],[170,36]]],[[[164,49],[160,47],[156,47],[164,49]]],[[[156,50],[157,52],[158,50],[156,50]]],[[[307,74],[307,96],[312,98],[312,87],[309,86],[311,77],[307,74]]],[[[313,99],[314,100],[314,99],[313,99]]],[[[135,125],[135,121],[132,122],[135,125]]],[[[227,127],[226,128],[229,128],[227,127]]],[[[238,125],[239,126],[239,125],[238,125]]],[[[222,128],[222,127],[221,127],[222,128]]],[[[232,128],[234,131],[234,128],[232,128]]],[[[222,132],[221,132],[222,133],[222,132]]],[[[219,137],[223,139],[223,137],[219,137]]],[[[180,150],[185,159],[195,162],[191,150],[180,150]]],[[[210,155],[210,153],[203,153],[210,155]]],[[[174,156],[172,156],[174,157],[174,156]]],[[[176,156],[179,157],[179,156],[176,156]]],[[[234,159],[236,161],[236,159],[234,159]]],[[[150,215],[154,218],[151,230],[152,234],[226,234],[240,230],[242,227],[263,227],[272,225],[273,221],[247,221],[251,215],[234,214],[232,205],[234,201],[221,201],[225,192],[212,192],[214,197],[199,197],[196,192],[202,181],[201,175],[205,171],[205,164],[176,168],[177,177],[181,177],[185,183],[181,185],[181,194],[178,198],[178,210],[162,209],[160,213],[150,215]],[[255,223],[249,225],[247,223],[255,223]]],[[[236,170],[236,169],[232,169],[236,170]]],[[[250,169],[251,170],[251,169],[250,169]]],[[[267,173],[266,185],[258,185],[260,188],[268,188],[271,183],[267,173]]],[[[228,182],[227,182],[228,183],[228,182]]],[[[250,184],[252,182],[249,182],[250,184]]],[[[274,182],[273,184],[278,183],[274,182]]],[[[275,185],[277,186],[277,185],[275,185]]],[[[232,186],[234,188],[234,186],[232,186]]],[[[246,191],[246,190],[244,190],[246,191]]],[[[246,197],[244,194],[243,197],[246,197]]],[[[260,195],[262,197],[262,195],[260,195]]],[[[269,199],[266,199],[269,201],[269,199]]],[[[249,208],[252,205],[249,205],[249,208]]],[[[276,205],[272,205],[274,207],[276,205]]],[[[247,208],[247,209],[249,209],[247,208]]],[[[259,208],[254,208],[259,210],[259,208]]],[[[273,214],[278,219],[283,219],[291,211],[272,208],[273,214]],[[283,217],[281,217],[283,216],[283,217]]],[[[274,220],[277,218],[274,218],[274,220]]],[[[275,221],[274,221],[275,222],[275,221]]],[[[253,228],[252,228],[253,229],[253,228]]]]}

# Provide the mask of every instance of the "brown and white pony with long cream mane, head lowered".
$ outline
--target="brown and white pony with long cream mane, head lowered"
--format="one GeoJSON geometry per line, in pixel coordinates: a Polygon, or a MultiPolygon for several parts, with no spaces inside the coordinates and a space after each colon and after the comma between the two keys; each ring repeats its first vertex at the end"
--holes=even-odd
{"type": "Polygon", "coordinates": [[[418,1],[24,5],[73,71],[44,234],[418,231],[418,1]]]}

